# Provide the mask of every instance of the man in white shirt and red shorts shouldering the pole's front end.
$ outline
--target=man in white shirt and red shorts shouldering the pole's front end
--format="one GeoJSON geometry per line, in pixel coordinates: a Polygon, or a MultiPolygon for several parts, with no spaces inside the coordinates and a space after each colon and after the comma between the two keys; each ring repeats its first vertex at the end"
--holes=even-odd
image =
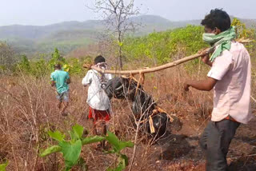
{"type": "MultiPolygon", "coordinates": [[[[106,70],[107,64],[105,58],[101,55],[94,59],[94,65],[106,70]]],[[[99,134],[97,128],[102,129],[106,134],[106,122],[110,121],[110,99],[106,95],[104,87],[106,83],[112,79],[111,74],[102,74],[96,70],[89,70],[86,77],[82,79],[82,85],[89,85],[87,104],[90,106],[89,119],[94,120],[93,132],[99,134]]],[[[101,143],[105,148],[105,143],[101,143]]]]}

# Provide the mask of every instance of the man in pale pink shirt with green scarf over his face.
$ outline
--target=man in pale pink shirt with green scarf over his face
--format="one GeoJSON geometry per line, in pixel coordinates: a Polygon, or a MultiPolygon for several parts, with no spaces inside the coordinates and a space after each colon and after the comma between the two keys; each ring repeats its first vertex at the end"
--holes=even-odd
{"type": "Polygon", "coordinates": [[[223,10],[211,10],[202,20],[204,41],[214,53],[202,61],[211,66],[208,78],[189,81],[189,87],[210,91],[214,89],[214,109],[211,121],[202,133],[199,144],[206,152],[206,170],[227,170],[226,154],[236,129],[253,117],[250,109],[250,55],[238,42],[230,17],[223,10]]]}

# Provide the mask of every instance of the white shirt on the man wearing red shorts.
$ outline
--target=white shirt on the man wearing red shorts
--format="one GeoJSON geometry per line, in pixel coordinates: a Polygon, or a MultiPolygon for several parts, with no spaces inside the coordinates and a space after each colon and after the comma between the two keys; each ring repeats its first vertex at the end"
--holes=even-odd
{"type": "MultiPolygon", "coordinates": [[[[111,74],[104,74],[104,82],[112,79],[111,74]]],[[[87,103],[93,109],[110,109],[110,99],[102,89],[101,74],[96,70],[89,70],[82,79],[82,85],[89,85],[87,103]]]]}

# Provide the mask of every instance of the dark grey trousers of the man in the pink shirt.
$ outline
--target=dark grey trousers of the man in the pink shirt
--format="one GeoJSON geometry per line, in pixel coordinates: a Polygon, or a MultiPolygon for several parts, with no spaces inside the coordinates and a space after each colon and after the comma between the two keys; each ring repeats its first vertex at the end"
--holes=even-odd
{"type": "Polygon", "coordinates": [[[230,120],[209,121],[199,140],[206,153],[206,171],[226,171],[226,154],[240,123],[230,120]]]}

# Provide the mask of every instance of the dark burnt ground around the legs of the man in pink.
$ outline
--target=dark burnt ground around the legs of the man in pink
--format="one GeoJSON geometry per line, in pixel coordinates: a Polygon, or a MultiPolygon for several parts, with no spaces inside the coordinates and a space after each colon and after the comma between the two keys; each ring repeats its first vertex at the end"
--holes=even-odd
{"type": "MultiPolygon", "coordinates": [[[[205,160],[198,146],[198,138],[207,121],[198,121],[189,117],[182,119],[182,129],[166,133],[151,148],[151,170],[205,170],[205,160]],[[154,164],[153,164],[154,162],[154,164]]],[[[230,144],[228,153],[229,170],[256,170],[256,119],[248,125],[240,125],[230,144]]]]}

